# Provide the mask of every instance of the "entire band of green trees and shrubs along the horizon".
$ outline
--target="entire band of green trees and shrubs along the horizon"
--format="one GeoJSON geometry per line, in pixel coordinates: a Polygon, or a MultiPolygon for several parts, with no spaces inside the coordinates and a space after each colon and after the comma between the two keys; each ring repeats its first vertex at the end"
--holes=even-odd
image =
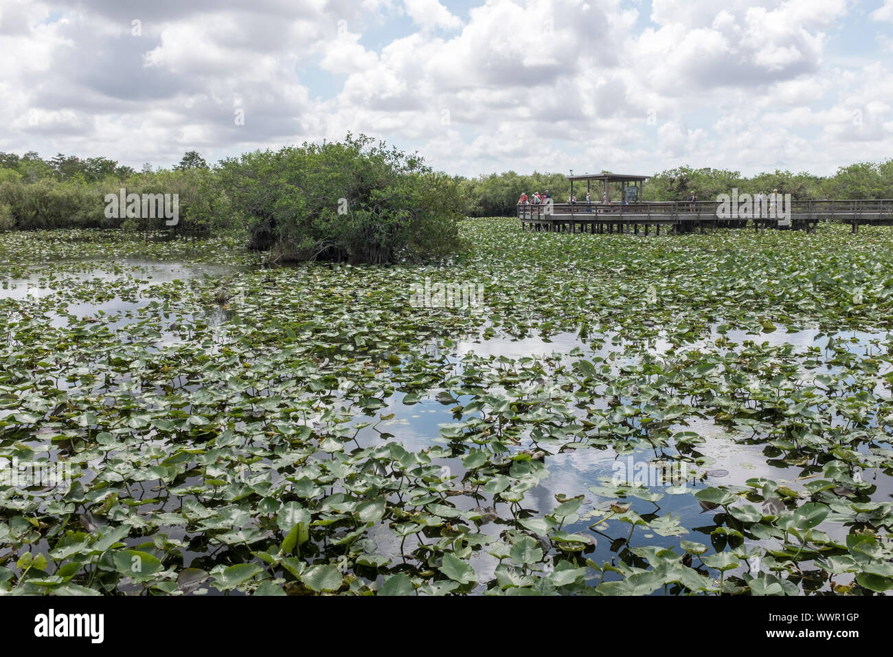
{"type": "MultiPolygon", "coordinates": [[[[105,157],[59,154],[43,159],[0,153],[0,230],[163,228],[162,220],[108,217],[106,195],[177,195],[179,231],[250,235],[257,250],[281,261],[329,259],[386,263],[405,257],[446,257],[459,247],[456,222],[465,216],[510,216],[522,192],[570,193],[563,173],[491,173],[476,178],[438,173],[418,155],[373,139],[279,151],[255,151],[209,165],[187,152],[173,169],[137,172],[105,157]]],[[[778,189],[797,200],[893,198],[893,159],[841,166],[832,176],[775,171],[752,177],[683,166],[655,173],[643,200],[716,198],[738,189],[778,189]]],[[[601,198],[601,190],[596,195],[601,198]]],[[[608,197],[619,199],[609,188],[608,197]]]]}

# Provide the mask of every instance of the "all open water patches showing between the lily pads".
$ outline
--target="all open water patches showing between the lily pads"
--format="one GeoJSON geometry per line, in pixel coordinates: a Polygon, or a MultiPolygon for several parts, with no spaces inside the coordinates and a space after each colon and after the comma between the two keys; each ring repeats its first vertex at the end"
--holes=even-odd
{"type": "MultiPolygon", "coordinates": [[[[111,329],[117,329],[137,322],[157,322],[162,324],[160,337],[154,342],[154,349],[163,349],[175,341],[188,340],[188,336],[180,335],[173,328],[183,321],[193,321],[201,316],[202,320],[211,325],[225,324],[229,316],[221,311],[220,307],[206,307],[198,311],[198,314],[171,312],[163,297],[164,285],[177,285],[181,282],[199,279],[204,275],[219,276],[232,274],[235,270],[231,267],[218,265],[195,265],[187,262],[157,262],[131,258],[114,266],[101,265],[95,269],[89,267],[81,271],[72,271],[64,274],[51,274],[37,270],[17,279],[0,281],[0,303],[4,299],[25,302],[39,306],[41,303],[51,301],[54,295],[59,296],[59,301],[52,305],[46,313],[48,326],[62,327],[86,318],[96,319],[111,329]],[[104,299],[79,300],[77,298],[80,286],[85,290],[96,288],[96,280],[104,283],[107,295],[104,299]]],[[[712,350],[723,353],[735,350],[746,341],[753,341],[757,345],[767,348],[783,347],[791,345],[802,358],[805,350],[810,347],[822,347],[827,343],[827,335],[823,335],[818,329],[805,328],[786,332],[783,328],[771,333],[747,333],[743,330],[731,330],[724,335],[719,328],[722,324],[714,324],[709,335],[705,335],[698,341],[690,342],[678,347],[668,339],[665,334],[658,334],[639,354],[649,354],[655,357],[667,357],[673,355],[678,358],[687,351],[712,350]],[[724,338],[722,346],[715,342],[724,338]]],[[[887,333],[844,332],[833,336],[835,341],[843,344],[846,350],[859,358],[864,358],[871,353],[877,353],[879,345],[889,345],[887,333]],[[873,342],[873,344],[872,344],[873,342]]],[[[438,346],[433,346],[432,351],[437,352],[438,346]]],[[[518,361],[532,359],[540,361],[547,372],[555,372],[558,367],[570,367],[581,358],[605,358],[610,360],[611,369],[616,373],[624,364],[636,362],[635,356],[630,356],[628,345],[616,335],[599,336],[598,340],[582,340],[577,333],[557,333],[549,337],[542,335],[530,335],[521,339],[515,339],[502,333],[497,333],[490,339],[465,339],[457,341],[455,347],[449,350],[447,362],[452,364],[456,374],[461,374],[463,367],[474,358],[483,358],[488,362],[518,361]]],[[[837,372],[839,368],[825,367],[826,372],[837,372]]],[[[880,375],[889,372],[889,366],[883,366],[880,375]]],[[[813,373],[814,374],[814,373],[813,373]]],[[[878,398],[886,395],[889,399],[889,391],[880,381],[875,394],[878,398]]],[[[846,381],[846,379],[844,379],[846,381]]],[[[64,382],[62,382],[64,384],[64,382]]],[[[598,390],[598,389],[597,389],[598,390]]],[[[387,406],[377,411],[381,416],[393,414],[392,419],[378,425],[375,431],[371,427],[362,429],[357,436],[357,442],[365,447],[380,445],[385,442],[398,442],[408,451],[424,451],[432,445],[447,445],[449,441],[440,435],[443,425],[452,425],[456,422],[467,420],[477,414],[463,415],[462,411],[456,411],[455,407],[467,406],[472,400],[470,396],[460,396],[455,402],[441,403],[436,399],[439,390],[432,390],[419,403],[405,405],[405,394],[396,392],[387,400],[387,406]],[[391,434],[382,437],[379,432],[391,434]]],[[[491,388],[491,392],[505,392],[498,386],[491,388]]],[[[599,391],[600,394],[601,391],[599,391]]],[[[336,398],[339,400],[338,398],[336,398]]],[[[623,402],[623,400],[619,400],[623,402]]],[[[589,406],[597,409],[607,409],[608,399],[594,398],[589,400],[589,406]]],[[[582,419],[586,416],[586,409],[573,409],[576,417],[582,419]]],[[[4,411],[0,411],[3,417],[4,411]]],[[[355,423],[367,420],[359,411],[356,412],[355,423]]],[[[693,431],[706,439],[706,442],[697,444],[693,452],[683,451],[678,445],[669,445],[662,450],[663,456],[672,459],[685,457],[687,467],[692,468],[695,474],[686,478],[684,485],[670,487],[662,482],[648,481],[645,489],[652,493],[661,493],[663,497],[658,501],[646,501],[635,497],[627,497],[624,502],[629,503],[632,510],[642,516],[657,514],[660,516],[673,514],[679,516],[680,525],[686,533],[682,535],[662,536],[655,534],[648,528],[633,528],[632,537],[620,534],[612,529],[613,534],[606,535],[602,530],[603,525],[596,525],[590,531],[590,526],[600,518],[605,518],[611,511],[607,504],[615,499],[611,495],[600,495],[590,491],[590,487],[599,486],[605,481],[611,480],[617,475],[618,465],[632,459],[635,464],[646,464],[658,455],[658,450],[648,449],[641,444],[636,445],[631,451],[618,451],[611,446],[588,446],[585,444],[561,443],[561,442],[534,442],[529,433],[523,434],[517,444],[510,446],[510,454],[518,454],[520,451],[546,451],[542,462],[547,467],[548,475],[543,477],[538,485],[530,489],[522,502],[522,515],[543,516],[549,513],[558,504],[561,495],[584,495],[584,501],[580,509],[580,520],[565,526],[569,532],[578,532],[583,535],[594,535],[597,538],[595,550],[588,554],[588,558],[597,563],[610,562],[617,559],[620,552],[634,544],[662,545],[678,550],[680,538],[699,541],[722,549],[722,542],[717,541],[712,535],[714,528],[713,517],[716,513],[705,511],[693,497],[692,493],[707,486],[727,484],[731,486],[746,486],[747,480],[758,477],[775,480],[780,484],[799,490],[804,480],[804,467],[800,465],[786,464],[773,454],[764,441],[746,441],[744,436],[731,431],[729,427],[717,424],[711,418],[686,417],[684,422],[671,426],[672,431],[693,431]]],[[[35,445],[40,441],[39,436],[35,445]]],[[[164,447],[164,443],[160,442],[164,447]]],[[[886,446],[886,445],[885,445],[886,446]]],[[[147,445],[148,447],[148,445],[147,445]]],[[[55,459],[57,450],[50,452],[51,459],[55,459]]],[[[460,458],[439,459],[441,467],[448,468],[451,475],[455,476],[457,487],[461,487],[463,476],[466,474],[460,458]]],[[[96,464],[98,465],[98,464],[96,464]]],[[[806,479],[805,481],[809,481],[806,479]]],[[[866,473],[866,481],[875,484],[875,490],[871,493],[872,501],[887,501],[893,497],[893,481],[889,476],[877,473],[866,473]]],[[[154,493],[147,491],[144,497],[154,493]]],[[[498,533],[509,527],[517,526],[518,509],[505,501],[495,501],[492,495],[461,495],[450,499],[456,506],[463,510],[472,510],[478,505],[493,506],[497,517],[480,526],[480,532],[496,537],[498,533]]],[[[162,503],[158,510],[173,510],[176,503],[162,503]]],[[[629,529],[629,527],[625,527],[629,529]]],[[[824,523],[823,531],[832,537],[843,539],[847,534],[844,526],[824,523]]],[[[167,532],[171,537],[186,538],[188,534],[179,527],[171,527],[167,532]]],[[[388,527],[381,525],[371,530],[371,537],[380,543],[381,552],[388,553],[399,561],[399,542],[388,531],[388,527]]],[[[139,539],[130,539],[130,544],[140,543],[139,539]]],[[[407,542],[404,552],[409,552],[413,541],[407,542]]],[[[768,543],[767,543],[768,544],[768,543]]],[[[41,546],[46,549],[46,546],[41,546]]],[[[193,560],[204,561],[208,552],[194,552],[186,550],[184,566],[189,567],[193,560]]],[[[472,556],[472,564],[479,573],[481,580],[492,577],[498,560],[488,556],[486,550],[475,552],[472,556]]],[[[610,579],[613,576],[608,576],[610,579]]],[[[846,581],[846,577],[838,577],[839,582],[846,581]]]]}

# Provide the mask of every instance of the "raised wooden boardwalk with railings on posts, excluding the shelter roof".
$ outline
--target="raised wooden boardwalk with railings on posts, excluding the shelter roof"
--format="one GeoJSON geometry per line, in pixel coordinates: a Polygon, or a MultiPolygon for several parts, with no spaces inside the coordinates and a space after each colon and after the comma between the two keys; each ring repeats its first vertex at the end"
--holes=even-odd
{"type": "Polygon", "coordinates": [[[780,206],[786,212],[776,216],[772,208],[762,212],[729,215],[717,201],[671,201],[619,204],[579,201],[575,204],[519,205],[518,219],[523,229],[547,232],[638,232],[647,235],[654,228],[656,234],[672,232],[705,232],[716,228],[745,228],[755,230],[780,228],[814,232],[821,221],[848,223],[858,232],[864,224],[893,225],[893,200],[835,200],[791,201],[780,206]]]}

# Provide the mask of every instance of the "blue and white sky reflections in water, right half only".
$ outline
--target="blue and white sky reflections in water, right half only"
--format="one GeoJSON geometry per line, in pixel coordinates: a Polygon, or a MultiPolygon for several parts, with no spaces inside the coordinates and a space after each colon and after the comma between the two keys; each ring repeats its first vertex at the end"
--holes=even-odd
{"type": "MultiPolygon", "coordinates": [[[[780,328],[772,333],[729,331],[725,333],[724,337],[726,340],[739,345],[743,341],[754,341],[758,345],[765,344],[769,347],[791,344],[798,348],[798,352],[802,353],[805,347],[816,345],[823,348],[825,346],[828,334],[824,333],[816,341],[820,333],[822,332],[818,329],[804,329],[786,333],[783,328],[780,328]]],[[[698,347],[703,349],[708,347],[709,342],[719,337],[721,337],[721,334],[716,333],[714,327],[714,332],[710,338],[696,343],[689,343],[675,349],[677,353],[680,350],[697,349],[698,347]]],[[[846,332],[837,333],[834,335],[834,338],[839,343],[846,344],[847,350],[862,355],[868,347],[869,341],[872,339],[886,340],[886,333],[846,332]]],[[[717,349],[715,345],[709,346],[712,350],[717,349]]],[[[655,354],[663,354],[672,349],[674,349],[673,345],[664,339],[652,342],[647,348],[648,351],[655,354]]],[[[722,349],[735,348],[725,346],[722,349]]],[[[593,349],[593,346],[588,341],[581,341],[575,333],[559,333],[548,340],[538,336],[513,339],[509,336],[500,335],[490,340],[460,341],[453,350],[450,360],[460,367],[463,358],[474,357],[484,358],[485,360],[500,357],[512,359],[546,358],[567,363],[579,358],[592,358],[594,355],[605,357],[612,350],[622,350],[622,347],[612,345],[610,340],[606,340],[605,346],[600,349],[593,349]],[[570,356],[572,350],[578,350],[575,352],[578,355],[570,356]]],[[[401,401],[403,395],[396,393],[388,400],[388,407],[380,411],[383,415],[394,413],[395,417],[388,422],[381,423],[379,429],[393,434],[393,437],[388,438],[388,440],[400,442],[407,450],[421,451],[432,444],[444,443],[445,441],[439,438],[439,425],[454,423],[458,420],[451,411],[454,404],[443,405],[433,399],[437,392],[430,392],[429,399],[421,400],[419,404],[413,406],[405,406],[401,401]]],[[[460,400],[460,404],[464,403],[467,403],[467,400],[460,400]]],[[[748,479],[764,477],[772,479],[779,484],[787,485],[794,490],[802,491],[805,483],[820,478],[809,477],[805,480],[800,480],[799,477],[803,476],[805,472],[803,467],[788,466],[775,457],[768,457],[764,453],[766,451],[765,444],[736,442],[733,434],[714,424],[710,419],[688,417],[684,425],[674,426],[672,430],[694,431],[706,439],[705,442],[694,447],[693,456],[701,459],[701,465],[695,467],[698,473],[697,480],[689,479],[684,489],[671,489],[669,492],[667,490],[668,484],[648,486],[649,490],[663,494],[663,498],[656,501],[656,505],[655,503],[638,500],[631,496],[626,498],[625,502],[630,503],[632,510],[642,515],[654,513],[657,516],[665,516],[667,514],[678,516],[680,517],[680,525],[688,531],[680,536],[662,536],[656,534],[648,527],[637,527],[631,540],[633,545],[660,545],[675,549],[677,553],[680,552],[678,547],[680,539],[697,541],[710,546],[712,544],[710,532],[715,526],[713,518],[720,510],[705,511],[702,509],[697,498],[693,496],[693,493],[698,488],[722,484],[744,487],[747,485],[748,479]]],[[[536,449],[530,445],[529,441],[522,441],[522,445],[513,448],[513,451],[522,448],[536,449]]],[[[551,444],[544,446],[543,449],[550,452],[557,451],[557,447],[551,444]]],[[[676,453],[672,449],[665,449],[664,451],[670,455],[676,453]]],[[[594,447],[580,447],[569,451],[552,453],[544,461],[548,475],[541,479],[536,487],[525,493],[522,507],[534,515],[543,516],[557,506],[557,495],[572,497],[582,494],[584,495],[584,502],[580,509],[581,519],[573,525],[563,528],[567,531],[591,535],[589,526],[605,516],[607,511],[603,512],[602,509],[605,508],[606,502],[610,500],[602,499],[588,489],[590,486],[599,485],[600,479],[604,480],[613,476],[615,459],[625,462],[627,458],[628,456],[625,454],[618,456],[613,449],[597,449],[594,447]]],[[[633,461],[637,464],[648,463],[654,458],[654,451],[643,448],[637,448],[632,455],[633,461]]],[[[459,475],[457,480],[461,479],[463,470],[459,459],[450,459],[444,461],[441,465],[450,467],[454,475],[459,475]]],[[[688,464],[688,466],[692,467],[691,464],[688,464]]],[[[868,481],[869,473],[866,472],[865,476],[866,481],[868,481]]],[[[888,500],[890,493],[893,492],[893,480],[887,476],[878,476],[872,473],[873,477],[876,478],[874,478],[872,483],[878,485],[878,490],[872,495],[872,499],[878,501],[888,500]]],[[[461,486],[457,484],[455,487],[461,486]]],[[[479,530],[482,533],[494,535],[500,529],[509,527],[505,524],[512,517],[509,505],[505,502],[495,501],[492,495],[486,495],[484,501],[472,501],[469,495],[452,497],[450,501],[463,509],[470,509],[479,504],[485,507],[495,505],[500,519],[497,519],[494,523],[482,526],[479,530]]],[[[742,501],[741,503],[745,502],[742,501]]],[[[630,531],[630,525],[616,519],[609,520],[597,528],[610,536],[611,539],[625,539],[630,531]]],[[[846,526],[823,523],[819,528],[841,541],[845,540],[847,535],[846,526]]],[[[596,551],[588,553],[588,558],[599,563],[616,558],[617,554],[612,552],[612,540],[603,535],[596,536],[598,541],[596,551]]],[[[381,538],[388,540],[384,536],[381,538]]],[[[748,541],[747,543],[751,542],[748,541]]],[[[616,546],[614,547],[616,549],[616,546]]],[[[722,548],[722,544],[720,547],[722,548]]],[[[485,579],[491,576],[492,570],[496,568],[498,562],[488,557],[486,551],[481,551],[472,556],[472,565],[478,571],[480,578],[485,579]]],[[[607,577],[607,579],[612,578],[610,576],[607,577]]]]}

